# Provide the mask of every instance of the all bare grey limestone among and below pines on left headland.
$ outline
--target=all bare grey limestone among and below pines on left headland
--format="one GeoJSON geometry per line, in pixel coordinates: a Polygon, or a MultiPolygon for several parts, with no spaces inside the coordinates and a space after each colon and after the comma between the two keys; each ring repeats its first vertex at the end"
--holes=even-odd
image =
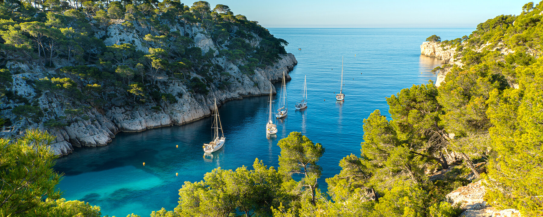
{"type": "MultiPolygon", "coordinates": [[[[218,45],[213,43],[209,34],[206,34],[206,31],[198,25],[176,24],[171,25],[170,28],[171,31],[179,31],[181,35],[189,36],[194,41],[193,46],[201,48],[204,54],[207,53],[207,50],[212,50],[216,55],[218,50],[226,49],[225,44],[228,44],[227,42],[217,47],[218,45]]],[[[143,45],[143,37],[152,33],[153,31],[148,27],[137,24],[134,28],[126,28],[119,23],[113,23],[104,31],[98,31],[96,34],[97,37],[105,38],[106,46],[131,42],[136,46],[136,49],[146,52],[148,47],[143,45]]],[[[253,35],[254,39],[246,41],[256,47],[262,39],[255,34],[253,35]]],[[[39,91],[33,87],[34,81],[47,76],[49,78],[60,76],[70,78],[72,76],[72,80],[77,81],[78,88],[82,90],[86,85],[83,79],[78,81],[79,78],[59,70],[63,66],[68,66],[65,60],[55,59],[56,68],[46,68],[39,64],[8,62],[8,68],[20,72],[20,74],[12,75],[13,82],[10,91],[23,98],[32,99],[41,108],[44,117],[41,117],[37,122],[30,121],[30,118],[19,118],[11,113],[10,108],[21,105],[21,103],[0,104],[2,110],[0,114],[12,122],[10,129],[0,132],[0,136],[17,136],[28,128],[44,129],[56,136],[56,143],[52,145],[52,151],[57,155],[67,155],[73,151],[74,146],[106,145],[118,132],[137,132],[160,126],[180,125],[209,116],[214,98],[217,98],[217,102],[222,104],[227,100],[241,96],[267,94],[270,91],[271,82],[281,80],[283,72],[292,71],[298,62],[293,54],[280,54],[280,59],[274,65],[257,68],[254,74],[242,73],[238,68],[240,65],[236,65],[224,56],[212,58],[211,63],[224,69],[225,75],[220,75],[219,81],[228,80],[229,85],[221,87],[217,81],[207,84],[210,91],[204,95],[194,93],[191,88],[187,87],[187,81],[162,73],[156,75],[154,84],[157,90],[174,95],[175,103],[148,101],[144,104],[134,105],[130,99],[125,97],[125,90],[123,90],[124,93],[122,91],[107,93],[108,90],[104,90],[104,94],[113,95],[112,100],[106,101],[103,106],[93,106],[60,93],[50,91],[38,93],[39,91]],[[86,107],[82,115],[88,118],[86,120],[78,119],[70,125],[56,128],[43,125],[47,120],[68,116],[65,112],[65,105],[68,103],[86,107]]],[[[203,78],[194,72],[187,72],[186,76],[188,78],[203,78]]],[[[290,79],[288,74],[286,77],[286,79],[290,79]]],[[[274,87],[272,86],[272,88],[274,87]]],[[[273,91],[275,92],[275,90],[273,91]]]]}

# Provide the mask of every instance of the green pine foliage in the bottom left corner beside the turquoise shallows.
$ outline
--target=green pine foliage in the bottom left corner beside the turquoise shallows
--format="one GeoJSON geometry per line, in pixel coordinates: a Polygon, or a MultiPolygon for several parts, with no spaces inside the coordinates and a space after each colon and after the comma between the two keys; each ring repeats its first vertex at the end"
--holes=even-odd
{"type": "Polygon", "coordinates": [[[16,141],[0,139],[0,213],[7,216],[47,216],[59,199],[60,175],[52,169],[57,157],[47,132],[27,130],[16,141]],[[46,200],[46,198],[48,200],[46,200]]]}

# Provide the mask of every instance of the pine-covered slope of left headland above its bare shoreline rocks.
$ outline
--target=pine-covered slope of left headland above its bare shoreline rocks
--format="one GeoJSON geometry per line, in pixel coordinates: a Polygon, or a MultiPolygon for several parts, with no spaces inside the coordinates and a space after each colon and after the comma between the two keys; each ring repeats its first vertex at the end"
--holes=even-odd
{"type": "Polygon", "coordinates": [[[17,134],[94,121],[89,113],[111,106],[164,107],[228,90],[273,66],[287,44],[205,1],[2,1],[0,113],[17,134]],[[165,90],[171,84],[184,92],[165,90]]]}

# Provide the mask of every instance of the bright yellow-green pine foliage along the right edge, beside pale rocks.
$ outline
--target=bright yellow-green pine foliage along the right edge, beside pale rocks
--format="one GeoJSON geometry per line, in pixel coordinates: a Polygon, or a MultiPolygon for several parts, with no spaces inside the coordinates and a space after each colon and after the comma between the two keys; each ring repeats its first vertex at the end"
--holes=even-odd
{"type": "Polygon", "coordinates": [[[543,61],[519,67],[518,89],[490,93],[487,114],[496,156],[488,167],[488,200],[495,206],[514,207],[522,215],[537,216],[543,210],[543,61]]]}

